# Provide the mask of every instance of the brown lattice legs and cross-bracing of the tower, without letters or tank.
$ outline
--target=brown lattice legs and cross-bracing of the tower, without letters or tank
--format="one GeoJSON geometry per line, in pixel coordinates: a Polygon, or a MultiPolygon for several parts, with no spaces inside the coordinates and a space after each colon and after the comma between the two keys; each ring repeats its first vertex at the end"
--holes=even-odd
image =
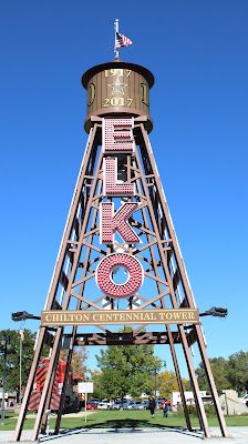
{"type": "MultiPolygon", "coordinates": [[[[104,168],[106,168],[106,153],[103,152],[101,147],[104,119],[92,119],[93,128],[89,135],[85,154],[69,211],[69,218],[45,302],[45,310],[97,311],[103,309],[136,310],[136,307],[138,307],[143,310],[152,307],[161,310],[170,307],[196,307],[163,185],[145,129],[145,118],[134,119],[134,151],[128,154],[118,155],[121,179],[134,186],[134,196],[126,195],[121,199],[118,196],[104,198],[103,175],[104,168]],[[106,243],[104,245],[101,243],[100,236],[101,203],[103,201],[110,204],[115,202],[117,209],[121,204],[121,200],[130,203],[138,203],[138,210],[132,214],[128,222],[142,243],[136,243],[135,245],[125,244],[115,233],[114,244],[106,243]],[[100,261],[104,260],[106,255],[114,252],[131,254],[142,263],[144,269],[144,284],[135,295],[128,299],[115,300],[107,297],[100,289],[96,291],[95,275],[97,264],[100,261]]],[[[110,153],[107,153],[107,155],[110,155],[110,153]]],[[[205,436],[209,437],[208,422],[190,355],[190,345],[196,343],[209,382],[209,389],[221,433],[224,436],[228,436],[209,361],[207,359],[206,345],[200,325],[193,325],[190,329],[185,330],[183,325],[172,327],[167,324],[164,326],[163,332],[151,331],[148,325],[147,331],[144,332],[144,325],[134,325],[132,333],[124,332],[122,334],[122,340],[120,340],[120,333],[117,333],[116,327],[112,329],[105,325],[95,325],[90,333],[85,327],[79,326],[72,326],[71,331],[69,327],[64,329],[62,326],[56,329],[41,326],[32,369],[18,420],[16,431],[17,441],[19,441],[21,436],[42,347],[44,344],[49,343],[51,347],[50,365],[35,418],[32,440],[37,440],[41,428],[45,430],[45,411],[50,405],[56,363],[65,336],[71,340],[68,353],[66,374],[70,369],[74,345],[167,343],[172,352],[186,424],[188,430],[192,430],[175,346],[175,344],[180,344],[195,395],[199,423],[205,436]]],[[[66,381],[66,375],[64,381],[66,381]]],[[[60,428],[64,394],[65,386],[62,389],[60,410],[56,417],[56,432],[59,432],[60,428]]]]}

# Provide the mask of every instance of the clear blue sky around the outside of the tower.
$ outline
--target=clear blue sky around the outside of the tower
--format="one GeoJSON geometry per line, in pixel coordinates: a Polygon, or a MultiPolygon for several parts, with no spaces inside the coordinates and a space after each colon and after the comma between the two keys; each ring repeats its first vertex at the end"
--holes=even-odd
{"type": "Polygon", "coordinates": [[[156,79],[151,141],[196,302],[229,310],[203,320],[208,354],[247,350],[245,0],[1,2],[0,329],[43,309],[86,141],[81,75],[113,60],[115,18],[122,59],[156,79]]]}

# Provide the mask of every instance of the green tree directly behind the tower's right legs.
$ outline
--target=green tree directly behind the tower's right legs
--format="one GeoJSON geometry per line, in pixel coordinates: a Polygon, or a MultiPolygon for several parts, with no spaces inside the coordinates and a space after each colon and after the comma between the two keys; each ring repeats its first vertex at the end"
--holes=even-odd
{"type": "MultiPolygon", "coordinates": [[[[231,389],[231,382],[229,380],[229,361],[225,360],[225,357],[219,356],[210,359],[209,363],[211,366],[217,391],[221,393],[223,390],[231,389]]],[[[196,374],[198,376],[199,389],[209,391],[209,385],[203,363],[200,363],[198,369],[196,369],[196,374]]]]}

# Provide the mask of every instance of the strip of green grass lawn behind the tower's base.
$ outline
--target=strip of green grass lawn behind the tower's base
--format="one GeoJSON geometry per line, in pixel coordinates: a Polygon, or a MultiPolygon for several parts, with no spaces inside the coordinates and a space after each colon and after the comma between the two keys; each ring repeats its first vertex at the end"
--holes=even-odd
{"type": "MultiPolygon", "coordinates": [[[[208,418],[209,426],[218,426],[216,417],[208,418]]],[[[230,426],[248,426],[248,416],[228,416],[226,417],[227,425],[230,426]]],[[[51,417],[50,428],[54,426],[55,420],[51,417]]],[[[17,417],[7,417],[6,424],[0,425],[0,430],[14,430],[17,417]]],[[[25,420],[24,428],[32,428],[34,418],[25,420]]],[[[198,427],[197,417],[192,416],[192,425],[198,427]]],[[[96,411],[89,415],[85,424],[84,416],[69,417],[63,416],[62,428],[138,428],[138,427],[185,427],[184,416],[170,414],[169,417],[163,417],[163,412],[157,411],[155,417],[151,416],[148,411],[96,411]]]]}

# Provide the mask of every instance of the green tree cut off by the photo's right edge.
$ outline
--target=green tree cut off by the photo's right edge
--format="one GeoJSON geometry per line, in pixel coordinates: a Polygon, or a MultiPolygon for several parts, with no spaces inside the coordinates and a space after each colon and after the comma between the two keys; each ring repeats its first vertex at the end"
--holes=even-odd
{"type": "Polygon", "coordinates": [[[228,380],[230,387],[239,394],[248,392],[248,352],[237,352],[229,356],[228,380]]]}

